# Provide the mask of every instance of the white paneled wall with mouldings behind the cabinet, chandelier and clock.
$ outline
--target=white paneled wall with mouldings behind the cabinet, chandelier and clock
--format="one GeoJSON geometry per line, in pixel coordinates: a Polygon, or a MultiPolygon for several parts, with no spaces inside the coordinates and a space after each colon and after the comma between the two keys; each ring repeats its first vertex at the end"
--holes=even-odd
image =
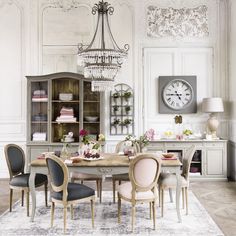
{"type": "MultiPolygon", "coordinates": [[[[0,0],[0,177],[7,176],[2,153],[4,144],[13,142],[24,146],[26,141],[25,75],[81,71],[76,63],[77,44],[91,40],[96,25],[91,8],[97,2],[0,0]]],[[[235,10],[236,5],[231,2],[235,10]]],[[[130,45],[129,57],[116,82],[134,88],[137,135],[148,128],[161,131],[173,123],[173,115],[158,113],[156,78],[159,75],[196,74],[199,107],[205,96],[227,98],[227,38],[221,33],[227,29],[227,9],[223,7],[227,5],[226,0],[111,0],[109,3],[115,9],[110,21],[114,38],[120,47],[125,43],[130,45]],[[146,14],[150,5],[174,8],[206,5],[209,37],[148,37],[146,14]]],[[[233,16],[230,19],[235,26],[233,16]]],[[[233,79],[231,82],[234,84],[233,79]]],[[[112,151],[116,141],[123,137],[109,135],[108,95],[105,94],[104,101],[104,132],[109,144],[107,151],[112,151]]],[[[233,90],[231,95],[235,99],[233,90]]],[[[235,120],[235,113],[232,117],[235,120]]],[[[184,115],[185,121],[191,120],[193,128],[201,130],[206,119],[200,110],[191,117],[184,115]]],[[[223,115],[222,119],[221,133],[227,137],[227,117],[223,115]]],[[[234,123],[232,121],[232,126],[234,123]]]]}

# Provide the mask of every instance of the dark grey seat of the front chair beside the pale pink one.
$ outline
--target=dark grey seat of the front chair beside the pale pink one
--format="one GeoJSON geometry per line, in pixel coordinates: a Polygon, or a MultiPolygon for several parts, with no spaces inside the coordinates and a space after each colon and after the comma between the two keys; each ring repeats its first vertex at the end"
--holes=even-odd
{"type": "MultiPolygon", "coordinates": [[[[77,183],[68,183],[67,191],[68,191],[67,201],[73,201],[86,197],[91,197],[95,194],[95,191],[92,188],[77,183]]],[[[51,196],[57,200],[62,200],[62,194],[63,194],[62,191],[61,192],[52,191],[51,196]]]]}

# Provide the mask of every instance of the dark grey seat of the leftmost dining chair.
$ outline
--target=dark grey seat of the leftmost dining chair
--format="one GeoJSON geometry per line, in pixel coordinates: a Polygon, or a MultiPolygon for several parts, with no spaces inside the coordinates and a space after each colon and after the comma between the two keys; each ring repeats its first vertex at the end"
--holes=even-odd
{"type": "MultiPolygon", "coordinates": [[[[11,186],[16,187],[29,187],[29,176],[30,174],[20,174],[14,176],[11,181],[11,186]]],[[[42,185],[47,181],[47,176],[43,174],[36,174],[35,176],[35,186],[42,185]]]]}

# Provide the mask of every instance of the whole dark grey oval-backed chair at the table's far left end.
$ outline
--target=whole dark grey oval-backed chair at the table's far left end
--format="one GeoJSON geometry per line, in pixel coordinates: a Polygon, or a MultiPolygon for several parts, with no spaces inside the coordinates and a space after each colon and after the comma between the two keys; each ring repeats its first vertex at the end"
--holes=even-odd
{"type": "MultiPolygon", "coordinates": [[[[24,192],[26,192],[26,208],[27,216],[29,216],[29,173],[24,172],[25,153],[21,147],[16,144],[8,144],[4,147],[5,158],[9,170],[10,181],[10,212],[12,211],[13,190],[22,192],[21,205],[24,205],[24,192]]],[[[45,205],[47,206],[47,185],[48,179],[46,175],[36,174],[35,187],[44,185],[45,189],[45,205]]]]}

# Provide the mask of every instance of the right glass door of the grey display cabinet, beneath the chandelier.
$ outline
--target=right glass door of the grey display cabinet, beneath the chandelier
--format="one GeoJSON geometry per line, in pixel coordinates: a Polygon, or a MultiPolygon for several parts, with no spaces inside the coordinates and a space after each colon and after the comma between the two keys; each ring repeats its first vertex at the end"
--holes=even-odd
{"type": "Polygon", "coordinates": [[[84,82],[83,129],[94,139],[100,133],[100,93],[91,91],[91,82],[84,82]]]}

